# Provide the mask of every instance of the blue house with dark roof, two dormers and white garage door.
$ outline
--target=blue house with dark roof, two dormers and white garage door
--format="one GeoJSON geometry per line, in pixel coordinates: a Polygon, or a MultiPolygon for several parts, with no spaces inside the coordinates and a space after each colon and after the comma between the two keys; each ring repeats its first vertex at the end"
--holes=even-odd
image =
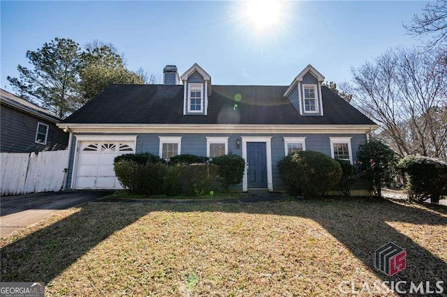
{"type": "Polygon", "coordinates": [[[113,159],[149,152],[170,158],[229,152],[247,161],[240,190],[284,190],[277,162],[299,150],[356,160],[378,125],[322,86],[307,66],[288,86],[212,85],[196,63],[163,85],[114,84],[58,124],[72,136],[69,189],[120,188],[113,159]]]}

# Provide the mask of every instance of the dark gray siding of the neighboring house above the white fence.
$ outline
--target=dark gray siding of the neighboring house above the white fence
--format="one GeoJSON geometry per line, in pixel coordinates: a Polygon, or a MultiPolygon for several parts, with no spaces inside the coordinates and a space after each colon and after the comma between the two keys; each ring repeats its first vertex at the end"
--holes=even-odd
{"type": "Polygon", "coordinates": [[[65,149],[68,133],[57,128],[54,123],[36,116],[1,105],[1,153],[30,153],[33,151],[56,151],[65,149]],[[48,125],[47,144],[36,144],[37,123],[48,125]]]}

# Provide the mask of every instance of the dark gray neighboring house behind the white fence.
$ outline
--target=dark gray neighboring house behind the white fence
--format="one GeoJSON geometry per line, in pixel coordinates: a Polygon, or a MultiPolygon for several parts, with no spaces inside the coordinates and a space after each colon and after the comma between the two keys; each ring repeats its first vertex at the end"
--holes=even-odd
{"type": "Polygon", "coordinates": [[[30,153],[66,149],[68,133],[51,112],[0,89],[0,152],[30,153]]]}

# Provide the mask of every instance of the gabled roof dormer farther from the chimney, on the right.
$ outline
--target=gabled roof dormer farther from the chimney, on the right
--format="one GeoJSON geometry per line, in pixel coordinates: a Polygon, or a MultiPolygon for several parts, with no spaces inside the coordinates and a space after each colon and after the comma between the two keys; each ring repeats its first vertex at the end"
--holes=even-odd
{"type": "Polygon", "coordinates": [[[312,65],[308,65],[293,79],[284,97],[292,102],[302,116],[323,116],[321,84],[324,77],[312,65]]]}

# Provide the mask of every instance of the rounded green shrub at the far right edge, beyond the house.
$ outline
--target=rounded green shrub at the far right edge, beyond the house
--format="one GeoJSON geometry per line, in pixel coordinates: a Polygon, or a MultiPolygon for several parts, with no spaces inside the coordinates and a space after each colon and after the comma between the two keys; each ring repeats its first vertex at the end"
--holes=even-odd
{"type": "Polygon", "coordinates": [[[406,175],[410,199],[422,202],[430,198],[433,203],[439,203],[441,195],[447,195],[446,162],[409,155],[397,167],[406,175]]]}

